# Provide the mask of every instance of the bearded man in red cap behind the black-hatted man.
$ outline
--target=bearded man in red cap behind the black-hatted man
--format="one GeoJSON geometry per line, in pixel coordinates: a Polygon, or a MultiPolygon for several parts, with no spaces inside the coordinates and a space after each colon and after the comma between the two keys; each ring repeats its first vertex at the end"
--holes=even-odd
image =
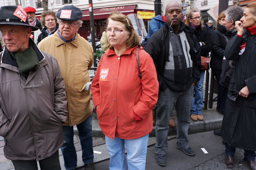
{"type": "Polygon", "coordinates": [[[34,40],[35,44],[37,44],[37,38],[38,38],[39,34],[41,34],[41,30],[43,29],[41,22],[35,17],[35,12],[36,12],[35,8],[26,7],[24,9],[27,12],[29,25],[39,28],[36,31],[32,31],[31,36],[30,36],[30,38],[32,38],[34,40]]]}

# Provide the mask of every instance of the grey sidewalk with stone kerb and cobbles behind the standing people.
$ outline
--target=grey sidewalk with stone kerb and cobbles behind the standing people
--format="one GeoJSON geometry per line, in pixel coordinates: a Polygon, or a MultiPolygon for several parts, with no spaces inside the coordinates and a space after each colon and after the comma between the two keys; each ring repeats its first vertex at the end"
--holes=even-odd
{"type": "MultiPolygon", "coordinates": [[[[215,106],[215,105],[214,105],[215,106]]],[[[203,121],[196,121],[190,119],[190,126],[188,129],[188,133],[197,133],[197,132],[204,132],[204,131],[210,131],[215,129],[221,128],[222,118],[223,114],[220,114],[216,109],[202,111],[204,120],[203,121]]],[[[174,111],[173,118],[176,121],[176,113],[174,111]]],[[[107,151],[106,145],[105,145],[105,135],[102,133],[99,125],[98,125],[98,119],[97,114],[93,112],[93,120],[92,120],[92,132],[93,132],[93,150],[94,150],[94,163],[101,162],[104,160],[109,159],[109,153],[107,151]]],[[[77,168],[82,168],[84,166],[84,163],[82,162],[81,156],[81,145],[78,138],[78,132],[76,127],[74,127],[74,144],[77,151],[77,168]]],[[[176,127],[175,128],[169,128],[168,132],[168,138],[175,138],[176,136],[176,127]]],[[[150,138],[148,140],[148,146],[154,145],[156,143],[155,139],[155,127],[153,127],[153,130],[149,134],[150,138]]],[[[3,152],[3,146],[4,146],[4,140],[3,137],[0,136],[0,170],[14,170],[14,166],[12,165],[12,162],[5,158],[4,152],[3,152]]],[[[65,170],[64,168],[64,161],[62,157],[62,152],[59,149],[59,159],[60,164],[62,167],[62,170],[65,170]]],[[[40,169],[40,168],[38,168],[40,169]]]]}

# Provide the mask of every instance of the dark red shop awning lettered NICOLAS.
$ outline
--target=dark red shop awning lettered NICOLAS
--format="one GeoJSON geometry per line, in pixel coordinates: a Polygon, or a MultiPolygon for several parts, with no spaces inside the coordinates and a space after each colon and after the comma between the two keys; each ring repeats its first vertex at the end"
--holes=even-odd
{"type": "MultiPolygon", "coordinates": [[[[120,11],[124,15],[133,14],[135,6],[136,5],[128,5],[128,6],[93,9],[93,18],[94,19],[108,18],[109,14],[115,10],[120,11]]],[[[83,18],[81,20],[82,21],[90,20],[89,10],[82,10],[82,12],[83,12],[83,18]]]]}

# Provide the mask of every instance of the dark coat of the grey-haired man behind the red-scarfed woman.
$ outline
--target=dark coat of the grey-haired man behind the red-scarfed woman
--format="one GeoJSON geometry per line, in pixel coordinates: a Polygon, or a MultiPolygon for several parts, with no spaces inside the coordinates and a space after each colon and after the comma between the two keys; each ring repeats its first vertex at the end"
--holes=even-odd
{"type": "MultiPolygon", "coordinates": [[[[235,27],[228,31],[225,36],[228,37],[228,43],[233,39],[233,37],[237,34],[237,30],[235,27]]],[[[227,46],[228,46],[227,43],[227,46]]],[[[221,76],[219,83],[225,87],[228,88],[230,79],[232,77],[234,67],[235,67],[236,61],[231,61],[226,58],[223,58],[222,60],[222,67],[221,67],[221,76]]]]}

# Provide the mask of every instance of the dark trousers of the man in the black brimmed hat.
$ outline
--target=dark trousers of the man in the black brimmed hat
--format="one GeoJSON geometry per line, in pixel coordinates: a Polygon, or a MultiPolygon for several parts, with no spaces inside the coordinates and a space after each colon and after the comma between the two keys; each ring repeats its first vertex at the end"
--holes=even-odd
{"type": "MultiPolygon", "coordinates": [[[[52,156],[38,162],[41,170],[61,170],[58,150],[52,156]]],[[[12,160],[12,164],[15,170],[38,170],[36,159],[31,161],[12,160]]]]}

